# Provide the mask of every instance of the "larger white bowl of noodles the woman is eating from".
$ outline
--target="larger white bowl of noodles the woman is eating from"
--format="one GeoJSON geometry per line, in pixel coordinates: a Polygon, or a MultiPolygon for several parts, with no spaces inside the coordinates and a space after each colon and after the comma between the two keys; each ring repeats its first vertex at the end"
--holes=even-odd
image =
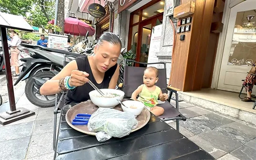
{"type": "Polygon", "coordinates": [[[94,105],[104,108],[113,108],[119,105],[117,99],[123,100],[125,94],[123,91],[117,89],[101,89],[101,91],[105,94],[106,98],[101,96],[97,90],[92,90],[89,96],[94,105]]]}

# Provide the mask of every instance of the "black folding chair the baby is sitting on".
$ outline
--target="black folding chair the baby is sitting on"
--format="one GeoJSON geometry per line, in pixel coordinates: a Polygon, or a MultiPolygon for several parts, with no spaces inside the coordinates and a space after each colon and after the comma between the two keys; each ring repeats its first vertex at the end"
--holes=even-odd
{"type": "Polygon", "coordinates": [[[166,93],[166,91],[169,91],[168,95],[168,100],[165,103],[158,104],[157,106],[163,107],[165,109],[165,112],[163,115],[159,116],[163,121],[168,121],[168,120],[174,120],[176,119],[176,130],[179,131],[179,120],[186,120],[186,117],[183,116],[179,112],[179,97],[177,90],[175,88],[167,87],[167,81],[166,81],[166,63],[165,62],[156,62],[156,63],[142,63],[142,62],[136,62],[136,61],[131,61],[131,60],[125,60],[124,61],[124,82],[123,84],[119,85],[121,87],[121,90],[125,92],[125,97],[131,97],[133,91],[137,89],[137,87],[141,84],[143,84],[143,74],[145,68],[143,67],[132,67],[132,66],[127,66],[127,62],[134,62],[134,63],[139,63],[139,64],[158,64],[164,65],[164,68],[160,69],[158,68],[159,74],[158,78],[159,80],[155,84],[158,86],[163,93],[166,93]],[[175,102],[176,106],[172,106],[170,103],[170,100],[172,98],[173,93],[175,94],[175,102]]]}

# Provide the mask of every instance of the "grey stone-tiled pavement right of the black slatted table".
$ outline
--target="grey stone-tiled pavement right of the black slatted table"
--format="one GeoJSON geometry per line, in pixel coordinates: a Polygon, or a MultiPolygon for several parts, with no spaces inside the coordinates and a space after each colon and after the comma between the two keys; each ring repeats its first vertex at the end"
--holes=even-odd
{"type": "MultiPolygon", "coordinates": [[[[256,160],[256,126],[180,102],[180,132],[219,160],[256,160]]],[[[174,128],[175,122],[169,123],[174,128]]]]}

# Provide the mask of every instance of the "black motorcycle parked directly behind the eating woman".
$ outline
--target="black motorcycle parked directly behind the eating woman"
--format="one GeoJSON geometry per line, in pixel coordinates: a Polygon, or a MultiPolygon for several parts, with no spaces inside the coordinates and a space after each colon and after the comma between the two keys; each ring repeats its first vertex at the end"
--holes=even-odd
{"type": "Polygon", "coordinates": [[[39,92],[41,86],[38,85],[35,78],[38,80],[41,79],[41,81],[50,80],[55,76],[51,71],[61,71],[65,65],[64,63],[68,63],[74,58],[81,56],[81,53],[83,55],[93,53],[93,48],[86,48],[83,52],[78,54],[30,44],[23,44],[23,46],[27,48],[30,57],[20,59],[23,62],[23,68],[14,85],[17,85],[20,80],[27,80],[25,86],[26,97],[32,104],[39,107],[54,106],[55,95],[42,96],[39,92]]]}

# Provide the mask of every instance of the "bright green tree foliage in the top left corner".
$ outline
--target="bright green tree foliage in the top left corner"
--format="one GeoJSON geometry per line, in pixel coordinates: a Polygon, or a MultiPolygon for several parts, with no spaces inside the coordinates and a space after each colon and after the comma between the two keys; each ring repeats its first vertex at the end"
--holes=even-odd
{"type": "Polygon", "coordinates": [[[0,0],[0,12],[26,17],[33,6],[33,0],[0,0]]]}

